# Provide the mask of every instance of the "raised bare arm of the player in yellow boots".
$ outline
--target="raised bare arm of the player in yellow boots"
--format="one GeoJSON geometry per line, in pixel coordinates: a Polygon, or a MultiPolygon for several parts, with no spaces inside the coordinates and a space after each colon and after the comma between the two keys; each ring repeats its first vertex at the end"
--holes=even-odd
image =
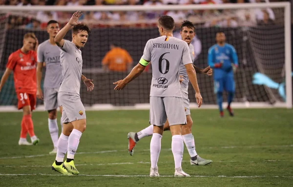
{"type": "Polygon", "coordinates": [[[59,46],[63,47],[64,44],[64,36],[66,33],[73,28],[74,25],[78,24],[78,19],[81,17],[82,13],[80,11],[76,11],[68,23],[58,32],[58,34],[54,38],[54,42],[59,46]]]}

